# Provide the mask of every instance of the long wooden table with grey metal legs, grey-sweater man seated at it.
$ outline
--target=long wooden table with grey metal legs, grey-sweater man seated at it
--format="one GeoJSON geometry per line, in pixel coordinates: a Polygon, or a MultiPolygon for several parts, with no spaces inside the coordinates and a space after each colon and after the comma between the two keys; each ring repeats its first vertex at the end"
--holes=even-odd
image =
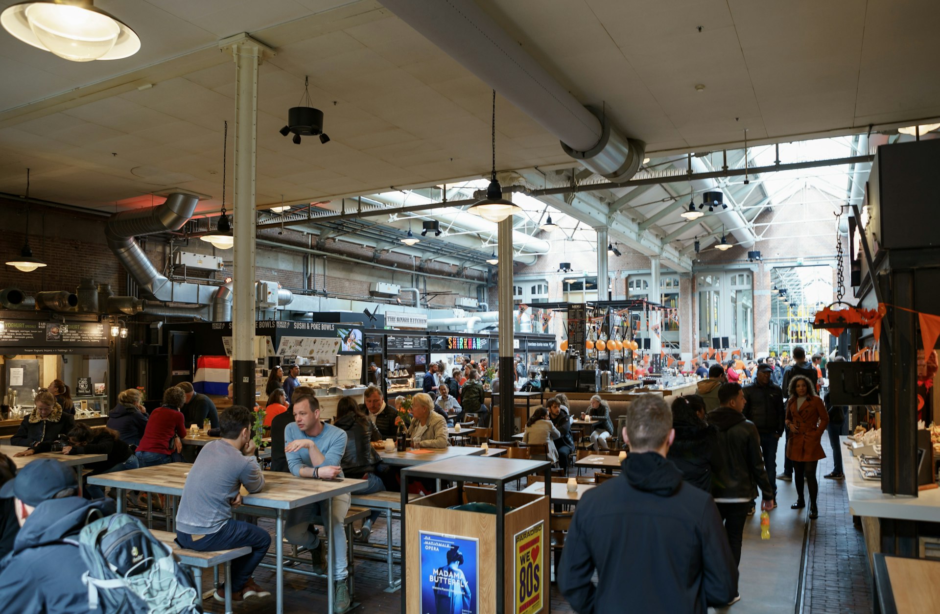
{"type": "MultiPolygon", "coordinates": [[[[93,476],[88,483],[99,486],[111,486],[118,489],[118,512],[124,511],[124,491],[126,489],[141,490],[160,495],[182,496],[186,485],[186,476],[189,475],[193,465],[188,463],[169,463],[156,466],[118,471],[93,476]]],[[[264,488],[259,493],[242,495],[244,505],[253,505],[259,508],[274,510],[276,520],[274,523],[274,556],[276,558],[275,573],[277,577],[277,614],[284,612],[284,512],[303,508],[312,503],[325,503],[323,512],[326,522],[326,534],[333,536],[333,497],[345,495],[365,488],[366,480],[343,481],[308,480],[295,478],[289,473],[274,471],[264,472],[264,488]]],[[[334,564],[336,562],[336,549],[329,549],[327,561],[327,603],[328,611],[333,611],[334,599],[334,564]]]]}

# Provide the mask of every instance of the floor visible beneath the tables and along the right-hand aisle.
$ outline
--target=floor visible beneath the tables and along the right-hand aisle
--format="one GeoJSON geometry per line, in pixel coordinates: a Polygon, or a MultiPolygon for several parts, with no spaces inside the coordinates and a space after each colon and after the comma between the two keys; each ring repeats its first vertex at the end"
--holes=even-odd
{"type": "MultiPolygon", "coordinates": [[[[868,582],[868,563],[861,531],[854,528],[848,513],[845,485],[841,481],[823,480],[822,475],[832,469],[831,452],[826,446],[829,459],[820,464],[820,518],[810,523],[807,543],[807,574],[805,576],[803,612],[869,612],[871,593],[868,582]]],[[[782,466],[782,446],[779,463],[782,466]]],[[[806,528],[806,510],[792,511],[795,500],[792,482],[777,481],[779,507],[772,512],[770,541],[760,540],[760,517],[751,517],[744,529],[744,547],[741,564],[742,600],[735,606],[718,610],[731,614],[789,614],[797,603],[797,585],[800,574],[800,559],[803,555],[803,540],[806,528]]],[[[270,522],[261,521],[262,526],[274,532],[270,522]]],[[[381,542],[385,534],[384,519],[380,519],[373,531],[373,541],[381,542]]],[[[399,525],[393,530],[395,542],[399,543],[399,525]]],[[[272,548],[273,549],[273,548],[272,548]]],[[[396,577],[399,569],[395,568],[396,577]]],[[[400,592],[384,592],[387,572],[383,561],[359,560],[356,568],[354,600],[359,606],[356,612],[399,612],[400,592]]],[[[258,570],[258,583],[274,590],[274,572],[258,570]]],[[[325,580],[300,575],[285,575],[286,612],[325,612],[325,580]]],[[[211,588],[211,575],[205,582],[205,590],[211,588]]],[[[206,603],[210,612],[224,611],[222,604],[206,603]]],[[[274,597],[252,600],[235,606],[236,612],[274,612],[274,597]]],[[[570,613],[572,609],[553,586],[551,612],[570,613]]]]}

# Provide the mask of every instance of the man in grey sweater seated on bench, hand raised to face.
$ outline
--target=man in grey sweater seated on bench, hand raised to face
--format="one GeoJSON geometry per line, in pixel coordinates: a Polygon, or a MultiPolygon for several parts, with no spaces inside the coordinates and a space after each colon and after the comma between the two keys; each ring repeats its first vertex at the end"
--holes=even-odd
{"type": "MultiPolygon", "coordinates": [[[[252,573],[264,559],[271,535],[263,528],[235,520],[232,508],[242,505],[241,489],[258,493],[264,487],[251,439],[254,417],[248,408],[232,405],[219,418],[222,439],[211,441],[189,471],[177,514],[177,542],[191,550],[225,550],[248,546],[251,553],[232,560],[232,601],[267,597],[252,573]]],[[[225,589],[212,597],[225,601],[225,589]]]]}

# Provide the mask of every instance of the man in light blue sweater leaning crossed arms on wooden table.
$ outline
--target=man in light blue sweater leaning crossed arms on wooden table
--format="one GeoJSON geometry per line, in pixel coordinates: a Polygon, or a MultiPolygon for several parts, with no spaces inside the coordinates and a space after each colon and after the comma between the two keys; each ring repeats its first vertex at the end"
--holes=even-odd
{"type": "MultiPolygon", "coordinates": [[[[321,422],[320,401],[313,396],[311,388],[298,388],[294,391],[291,403],[294,421],[284,429],[284,450],[287,452],[290,473],[298,478],[313,480],[334,480],[343,476],[339,463],[346,452],[346,432],[332,424],[321,422]]],[[[346,530],[343,521],[350,509],[350,496],[333,497],[333,535],[330,547],[334,548],[336,567],[333,577],[336,580],[334,610],[344,612],[350,606],[349,587],[346,586],[346,530]]],[[[303,545],[313,557],[313,569],[319,574],[326,574],[325,553],[313,529],[314,523],[323,523],[319,503],[291,510],[288,512],[288,542],[303,545]]]]}

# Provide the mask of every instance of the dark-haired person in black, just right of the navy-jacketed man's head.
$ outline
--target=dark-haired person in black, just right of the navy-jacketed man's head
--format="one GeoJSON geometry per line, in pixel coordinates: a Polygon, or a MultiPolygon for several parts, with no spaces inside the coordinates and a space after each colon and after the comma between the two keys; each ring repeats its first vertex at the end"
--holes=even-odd
{"type": "Polygon", "coordinates": [[[712,455],[718,429],[704,419],[705,401],[697,394],[672,401],[672,428],[676,438],[666,458],[682,471],[682,480],[712,493],[712,455]]]}

